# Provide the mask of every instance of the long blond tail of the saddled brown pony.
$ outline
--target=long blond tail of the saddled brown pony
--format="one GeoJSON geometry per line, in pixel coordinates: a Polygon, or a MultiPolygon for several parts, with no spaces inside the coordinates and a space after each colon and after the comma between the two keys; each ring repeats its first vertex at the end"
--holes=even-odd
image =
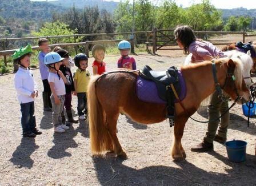
{"type": "Polygon", "coordinates": [[[107,150],[108,131],[106,128],[106,116],[101,103],[96,95],[95,82],[99,76],[91,78],[87,90],[88,122],[90,130],[91,152],[99,155],[107,150]]]}

